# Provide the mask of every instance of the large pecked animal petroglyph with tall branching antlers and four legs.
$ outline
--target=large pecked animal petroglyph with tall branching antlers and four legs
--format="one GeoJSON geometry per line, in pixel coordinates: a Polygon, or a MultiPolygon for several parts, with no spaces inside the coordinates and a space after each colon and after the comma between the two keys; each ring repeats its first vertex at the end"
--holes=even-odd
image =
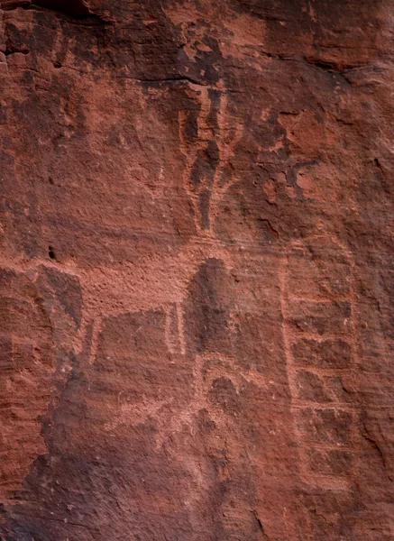
{"type": "MultiPolygon", "coordinates": [[[[195,86],[190,84],[190,87],[195,86]]],[[[190,278],[209,258],[224,261],[227,269],[234,266],[230,252],[215,236],[214,225],[218,204],[232,183],[231,175],[228,181],[224,179],[224,170],[241,140],[243,125],[229,115],[223,88],[198,86],[195,94],[200,103],[199,114],[194,119],[197,135],[189,141],[187,119],[179,111],[179,138],[185,156],[183,181],[193,202],[197,234],[177,255],[158,255],[135,264],[124,261],[118,265],[78,270],[84,293],[84,313],[76,349],[81,350],[87,325],[93,322],[91,359],[96,355],[97,336],[104,316],[157,307],[166,310],[168,330],[171,311],[175,307],[179,343],[184,353],[181,303],[187,295],[190,278]]],[[[168,341],[168,347],[172,351],[175,345],[168,341]]]]}

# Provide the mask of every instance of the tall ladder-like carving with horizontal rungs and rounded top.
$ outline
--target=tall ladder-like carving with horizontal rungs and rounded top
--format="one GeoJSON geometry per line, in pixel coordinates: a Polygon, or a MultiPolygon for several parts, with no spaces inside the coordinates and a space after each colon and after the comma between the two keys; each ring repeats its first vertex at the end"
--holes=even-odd
{"type": "Polygon", "coordinates": [[[304,481],[349,488],[357,473],[352,254],[336,239],[292,243],[280,274],[291,408],[304,481]]]}

